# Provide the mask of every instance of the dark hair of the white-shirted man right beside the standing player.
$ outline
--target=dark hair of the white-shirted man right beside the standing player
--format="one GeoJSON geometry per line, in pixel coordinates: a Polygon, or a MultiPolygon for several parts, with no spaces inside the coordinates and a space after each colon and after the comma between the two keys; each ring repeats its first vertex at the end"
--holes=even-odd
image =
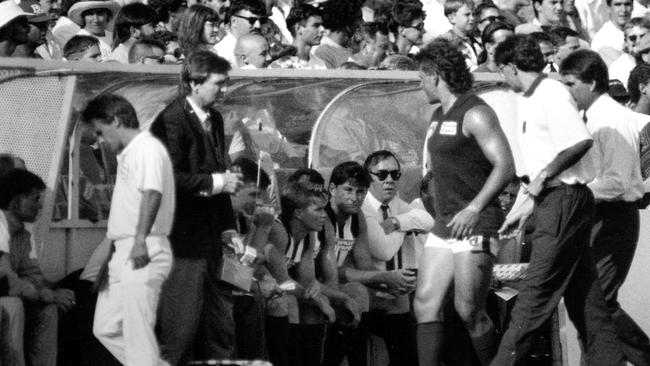
{"type": "Polygon", "coordinates": [[[494,51],[494,62],[512,63],[524,72],[542,72],[546,66],[537,40],[525,34],[515,34],[501,42],[494,51]]]}

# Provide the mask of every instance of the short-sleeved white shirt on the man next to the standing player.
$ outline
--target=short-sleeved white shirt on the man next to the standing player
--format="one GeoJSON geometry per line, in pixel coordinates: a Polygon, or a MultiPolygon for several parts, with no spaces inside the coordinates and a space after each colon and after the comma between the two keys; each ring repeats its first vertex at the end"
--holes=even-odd
{"type": "MultiPolygon", "coordinates": [[[[575,101],[566,87],[540,76],[518,97],[519,175],[535,178],[555,157],[575,144],[591,140],[575,101]]],[[[596,175],[593,157],[585,154],[555,177],[566,184],[589,183],[596,175]]]]}

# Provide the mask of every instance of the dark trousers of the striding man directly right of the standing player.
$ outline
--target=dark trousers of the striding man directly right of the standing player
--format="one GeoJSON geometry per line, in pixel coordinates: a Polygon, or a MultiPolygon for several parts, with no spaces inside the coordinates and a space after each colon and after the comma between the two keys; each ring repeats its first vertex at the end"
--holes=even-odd
{"type": "Polygon", "coordinates": [[[546,189],[535,202],[532,219],[528,274],[492,365],[523,364],[535,330],[551,317],[562,297],[587,364],[621,364],[623,354],[589,248],[594,219],[591,191],[583,185],[546,189]]]}

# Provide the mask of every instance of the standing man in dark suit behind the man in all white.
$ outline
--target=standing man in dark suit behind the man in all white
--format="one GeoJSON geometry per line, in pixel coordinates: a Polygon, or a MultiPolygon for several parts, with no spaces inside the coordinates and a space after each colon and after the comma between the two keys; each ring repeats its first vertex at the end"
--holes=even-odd
{"type": "Polygon", "coordinates": [[[235,354],[232,291],[217,273],[222,235],[235,228],[229,193],[242,181],[226,170],[223,119],[212,108],[228,71],[228,61],[212,52],[191,54],[181,70],[181,96],[151,126],[169,150],[176,181],[174,265],[157,324],[162,356],[171,365],[184,365],[195,341],[197,359],[235,354]]]}

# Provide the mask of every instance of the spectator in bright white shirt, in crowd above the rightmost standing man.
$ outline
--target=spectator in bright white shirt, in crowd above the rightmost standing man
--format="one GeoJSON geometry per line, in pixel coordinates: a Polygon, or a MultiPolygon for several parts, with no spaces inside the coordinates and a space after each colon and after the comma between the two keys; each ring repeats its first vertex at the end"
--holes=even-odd
{"type": "Polygon", "coordinates": [[[609,21],[594,35],[591,49],[598,52],[607,65],[623,53],[625,33],[623,27],[632,16],[632,0],[608,0],[609,21]]]}

